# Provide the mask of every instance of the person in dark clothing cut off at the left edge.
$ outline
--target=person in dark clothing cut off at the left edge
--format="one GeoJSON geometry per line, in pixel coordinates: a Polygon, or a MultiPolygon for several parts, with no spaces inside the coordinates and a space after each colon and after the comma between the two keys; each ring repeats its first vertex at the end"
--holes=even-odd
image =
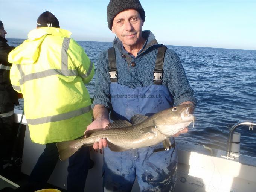
{"type": "Polygon", "coordinates": [[[15,47],[7,44],[6,31],[0,21],[0,173],[11,158],[14,138],[12,137],[14,105],[18,96],[10,81],[11,63],[8,54],[15,47]]]}

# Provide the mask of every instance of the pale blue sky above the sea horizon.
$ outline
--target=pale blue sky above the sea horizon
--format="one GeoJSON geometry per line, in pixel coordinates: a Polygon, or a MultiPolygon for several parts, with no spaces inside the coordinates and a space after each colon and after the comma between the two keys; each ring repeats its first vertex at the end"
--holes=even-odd
{"type": "MultiPolygon", "coordinates": [[[[256,50],[254,0],[141,0],[146,13],[143,30],[158,43],[179,46],[256,50]]],[[[107,41],[108,0],[0,0],[6,38],[27,38],[38,16],[48,10],[75,40],[107,41]]]]}

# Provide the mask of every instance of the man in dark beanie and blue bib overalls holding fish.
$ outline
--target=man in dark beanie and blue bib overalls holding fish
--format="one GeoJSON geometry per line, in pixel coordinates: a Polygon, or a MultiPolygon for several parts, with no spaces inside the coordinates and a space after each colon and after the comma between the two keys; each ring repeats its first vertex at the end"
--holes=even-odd
{"type": "MultiPolygon", "coordinates": [[[[143,116],[135,116],[135,123],[139,123],[143,122],[143,117],[152,116],[173,105],[187,104],[185,108],[177,106],[170,110],[178,111],[180,116],[193,122],[194,117],[189,112],[192,112],[196,99],[180,59],[173,50],[159,45],[151,31],[142,31],[145,12],[139,0],[110,0],[107,18],[108,27],[117,38],[112,48],[99,55],[93,102],[94,121],[87,127],[85,136],[87,133],[93,134],[94,129],[106,128],[112,120],[129,121],[134,115],[140,114],[143,116]],[[123,96],[125,94],[126,97],[123,96]]],[[[164,122],[166,119],[156,119],[153,132],[157,128],[161,134],[171,134],[163,131],[168,130],[169,122],[164,122]]],[[[180,130],[181,124],[177,128],[179,132],[173,136],[188,131],[187,123],[183,123],[184,127],[180,130]]],[[[145,133],[151,134],[152,130],[145,130],[145,133]]],[[[104,147],[104,191],[131,191],[136,175],[141,191],[174,191],[177,149],[174,137],[169,137],[168,141],[164,139],[150,145],[149,139],[149,147],[127,150],[112,145],[106,138],[98,139],[93,148],[104,147]],[[114,151],[107,145],[110,148],[114,146],[114,151]],[[168,147],[169,150],[165,150],[168,147]]]]}

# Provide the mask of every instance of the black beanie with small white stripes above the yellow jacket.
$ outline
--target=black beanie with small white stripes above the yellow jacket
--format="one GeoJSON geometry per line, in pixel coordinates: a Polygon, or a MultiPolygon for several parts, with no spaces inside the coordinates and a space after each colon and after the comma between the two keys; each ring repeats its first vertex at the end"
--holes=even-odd
{"type": "Polygon", "coordinates": [[[37,19],[37,27],[59,28],[58,19],[49,11],[43,12],[37,19]]]}

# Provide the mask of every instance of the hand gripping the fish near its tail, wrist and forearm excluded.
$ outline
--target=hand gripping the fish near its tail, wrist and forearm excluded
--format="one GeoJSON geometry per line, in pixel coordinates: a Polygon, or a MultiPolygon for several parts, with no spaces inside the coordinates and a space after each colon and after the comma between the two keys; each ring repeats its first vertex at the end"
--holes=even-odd
{"type": "MultiPolygon", "coordinates": [[[[109,123],[110,121],[108,119],[96,119],[90,125],[87,126],[86,131],[94,130],[94,129],[105,129],[109,123]]],[[[93,144],[94,149],[98,149],[98,148],[102,149],[103,147],[106,147],[106,146],[107,146],[106,138],[100,139],[99,142],[95,142],[93,144]]]]}

